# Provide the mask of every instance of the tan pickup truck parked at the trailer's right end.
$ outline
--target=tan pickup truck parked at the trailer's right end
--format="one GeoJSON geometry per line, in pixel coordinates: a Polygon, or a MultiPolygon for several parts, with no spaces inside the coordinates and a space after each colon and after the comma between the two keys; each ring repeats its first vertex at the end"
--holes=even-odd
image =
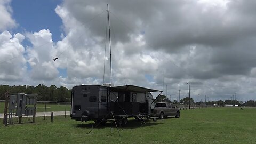
{"type": "Polygon", "coordinates": [[[180,109],[177,106],[173,106],[172,103],[168,102],[157,102],[154,107],[154,117],[159,119],[167,118],[168,116],[180,117],[180,109]]]}

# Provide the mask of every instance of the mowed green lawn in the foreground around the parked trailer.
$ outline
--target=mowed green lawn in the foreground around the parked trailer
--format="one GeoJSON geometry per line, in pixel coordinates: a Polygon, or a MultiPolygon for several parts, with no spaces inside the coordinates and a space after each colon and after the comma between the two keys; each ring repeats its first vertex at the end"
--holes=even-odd
{"type": "MultiPolygon", "coordinates": [[[[2,119],[1,119],[2,121],[2,119]]],[[[256,108],[202,108],[181,110],[180,118],[141,125],[129,120],[123,131],[92,129],[93,122],[77,122],[63,116],[36,123],[0,125],[0,143],[256,143],[256,108]]],[[[114,127],[114,124],[112,125],[114,127]]]]}

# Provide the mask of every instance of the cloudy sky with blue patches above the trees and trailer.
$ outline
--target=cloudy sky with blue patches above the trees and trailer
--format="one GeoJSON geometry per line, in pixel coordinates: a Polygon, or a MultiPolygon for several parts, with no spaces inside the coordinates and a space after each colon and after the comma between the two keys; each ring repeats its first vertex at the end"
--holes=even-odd
{"type": "Polygon", "coordinates": [[[256,100],[254,0],[1,0],[0,84],[110,83],[107,4],[115,86],[256,100]]]}

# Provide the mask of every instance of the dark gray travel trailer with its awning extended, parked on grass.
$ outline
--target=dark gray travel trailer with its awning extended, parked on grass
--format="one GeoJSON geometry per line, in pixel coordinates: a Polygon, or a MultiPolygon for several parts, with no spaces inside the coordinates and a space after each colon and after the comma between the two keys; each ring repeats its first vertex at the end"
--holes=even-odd
{"type": "MultiPolygon", "coordinates": [[[[76,121],[94,120],[97,123],[111,111],[119,125],[126,124],[129,117],[141,119],[150,116],[154,101],[150,92],[162,93],[134,85],[77,85],[72,89],[70,116],[76,121]]],[[[105,119],[110,119],[110,116],[105,119]]]]}

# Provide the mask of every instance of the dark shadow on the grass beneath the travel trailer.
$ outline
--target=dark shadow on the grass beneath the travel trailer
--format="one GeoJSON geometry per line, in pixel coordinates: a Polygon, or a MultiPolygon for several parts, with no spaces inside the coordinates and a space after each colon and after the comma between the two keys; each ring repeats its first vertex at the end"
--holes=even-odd
{"type": "MultiPolygon", "coordinates": [[[[122,129],[136,129],[138,127],[145,127],[145,126],[154,126],[154,125],[159,125],[159,124],[163,124],[161,122],[162,120],[157,120],[157,122],[154,122],[153,120],[146,120],[143,122],[138,121],[137,119],[129,119],[128,123],[126,125],[122,125],[122,126],[118,126],[118,128],[122,128],[122,129]]],[[[79,128],[90,128],[92,129],[93,127],[95,127],[95,123],[92,121],[92,123],[85,123],[85,124],[75,124],[75,127],[79,127],[79,128]]],[[[98,125],[97,129],[103,129],[106,127],[113,127],[116,128],[115,122],[107,122],[105,125],[98,125]]]]}

